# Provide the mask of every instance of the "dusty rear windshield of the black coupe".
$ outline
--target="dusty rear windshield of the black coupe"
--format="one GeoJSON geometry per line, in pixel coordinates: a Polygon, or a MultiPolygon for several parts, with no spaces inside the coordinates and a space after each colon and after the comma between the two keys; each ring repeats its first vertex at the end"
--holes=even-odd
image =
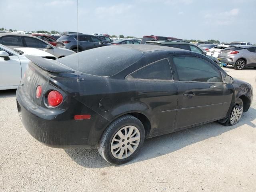
{"type": "MultiPolygon", "coordinates": [[[[104,46],[79,52],[79,72],[112,76],[131,66],[143,54],[135,49],[122,46],[104,46]]],[[[77,54],[72,54],[55,60],[73,70],[77,70],[77,54]]]]}

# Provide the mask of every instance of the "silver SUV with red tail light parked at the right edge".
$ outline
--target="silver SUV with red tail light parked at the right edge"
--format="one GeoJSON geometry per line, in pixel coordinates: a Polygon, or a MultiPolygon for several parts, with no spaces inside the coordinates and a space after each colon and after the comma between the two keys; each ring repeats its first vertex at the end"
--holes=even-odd
{"type": "Polygon", "coordinates": [[[256,67],[256,46],[230,46],[220,51],[218,60],[234,66],[237,70],[256,67]]]}

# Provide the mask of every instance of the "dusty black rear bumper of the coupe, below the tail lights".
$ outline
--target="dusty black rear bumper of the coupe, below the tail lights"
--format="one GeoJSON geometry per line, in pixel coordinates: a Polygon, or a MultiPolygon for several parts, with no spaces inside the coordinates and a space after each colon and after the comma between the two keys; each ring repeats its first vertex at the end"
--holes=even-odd
{"type": "Polygon", "coordinates": [[[79,106],[86,108],[81,103],[70,110],[51,114],[47,108],[29,100],[21,87],[16,92],[18,112],[24,127],[36,140],[54,148],[97,146],[108,120],[90,109],[86,111],[91,115],[90,120],[74,120],[74,112],[81,110],[79,106]]]}

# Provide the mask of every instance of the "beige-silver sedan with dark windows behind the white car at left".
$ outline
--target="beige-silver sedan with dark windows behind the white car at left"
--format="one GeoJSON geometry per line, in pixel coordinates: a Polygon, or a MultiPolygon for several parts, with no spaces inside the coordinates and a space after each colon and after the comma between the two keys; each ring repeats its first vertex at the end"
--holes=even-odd
{"type": "Polygon", "coordinates": [[[21,47],[37,48],[54,55],[56,58],[76,53],[69,49],[54,47],[50,43],[32,35],[0,33],[0,43],[11,49],[21,47]]]}

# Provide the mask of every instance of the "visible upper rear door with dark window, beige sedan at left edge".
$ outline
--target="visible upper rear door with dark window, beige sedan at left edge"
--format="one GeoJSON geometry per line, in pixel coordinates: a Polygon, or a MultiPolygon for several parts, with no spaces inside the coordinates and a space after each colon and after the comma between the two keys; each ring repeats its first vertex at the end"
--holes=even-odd
{"type": "Polygon", "coordinates": [[[2,36],[0,38],[0,43],[2,45],[5,45],[11,49],[17,48],[17,47],[24,47],[24,44],[22,42],[22,39],[18,35],[6,35],[2,36]]]}

